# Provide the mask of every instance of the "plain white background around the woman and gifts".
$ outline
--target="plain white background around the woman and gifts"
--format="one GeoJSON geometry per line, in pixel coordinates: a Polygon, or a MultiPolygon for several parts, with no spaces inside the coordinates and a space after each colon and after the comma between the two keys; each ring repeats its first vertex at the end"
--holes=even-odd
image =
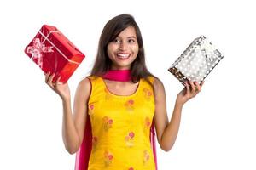
{"type": "Polygon", "coordinates": [[[61,139],[61,99],[24,48],[43,24],[57,26],[86,58],[69,80],[74,94],[89,74],[103,26],[134,15],[148,70],[160,77],[169,118],[183,86],[169,66],[195,37],[205,35],[224,59],[183,108],[176,144],[158,147],[160,170],[256,169],[255,37],[253,1],[35,1],[0,3],[0,169],[74,167],[61,139]]]}

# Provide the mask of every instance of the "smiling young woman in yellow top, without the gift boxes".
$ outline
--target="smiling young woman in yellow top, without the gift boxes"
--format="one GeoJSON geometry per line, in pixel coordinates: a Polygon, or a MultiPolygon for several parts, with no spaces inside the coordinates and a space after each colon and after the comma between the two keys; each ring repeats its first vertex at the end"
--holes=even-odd
{"type": "Polygon", "coordinates": [[[169,122],[164,85],[147,70],[143,38],[129,14],[104,27],[95,65],[90,77],[79,82],[73,111],[68,84],[58,83],[61,77],[53,82],[54,76],[48,73],[45,82],[62,99],[63,142],[69,153],[77,153],[76,169],[83,170],[156,169],[150,129],[155,127],[160,148],[171,150],[183,105],[202,86],[187,82],[169,122]]]}

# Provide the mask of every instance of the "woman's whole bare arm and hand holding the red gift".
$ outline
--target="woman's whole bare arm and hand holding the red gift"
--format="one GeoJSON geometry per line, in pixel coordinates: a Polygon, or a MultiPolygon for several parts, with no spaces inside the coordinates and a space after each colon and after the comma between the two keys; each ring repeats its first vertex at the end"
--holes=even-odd
{"type": "Polygon", "coordinates": [[[73,113],[71,109],[71,99],[67,83],[59,84],[52,82],[54,76],[46,75],[46,82],[55,93],[59,94],[62,99],[63,117],[62,117],[62,139],[66,150],[74,154],[79,150],[84,138],[84,128],[87,116],[87,103],[90,98],[90,80],[84,78],[79,82],[76,90],[73,113]]]}

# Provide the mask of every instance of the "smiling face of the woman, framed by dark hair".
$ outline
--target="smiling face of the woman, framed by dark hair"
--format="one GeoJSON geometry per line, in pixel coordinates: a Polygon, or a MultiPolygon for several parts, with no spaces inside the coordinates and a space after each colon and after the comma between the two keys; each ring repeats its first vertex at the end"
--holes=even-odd
{"type": "Polygon", "coordinates": [[[125,28],[113,42],[108,43],[108,57],[112,60],[113,70],[129,70],[137,54],[138,43],[133,26],[125,28]]]}

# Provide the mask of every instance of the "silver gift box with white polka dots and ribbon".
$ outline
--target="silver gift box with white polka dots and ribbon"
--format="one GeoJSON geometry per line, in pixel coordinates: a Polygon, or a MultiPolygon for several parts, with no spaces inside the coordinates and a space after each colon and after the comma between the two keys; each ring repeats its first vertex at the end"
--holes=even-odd
{"type": "Polygon", "coordinates": [[[223,57],[223,54],[206,37],[197,37],[168,71],[177,77],[184,86],[188,81],[201,84],[223,57]]]}

